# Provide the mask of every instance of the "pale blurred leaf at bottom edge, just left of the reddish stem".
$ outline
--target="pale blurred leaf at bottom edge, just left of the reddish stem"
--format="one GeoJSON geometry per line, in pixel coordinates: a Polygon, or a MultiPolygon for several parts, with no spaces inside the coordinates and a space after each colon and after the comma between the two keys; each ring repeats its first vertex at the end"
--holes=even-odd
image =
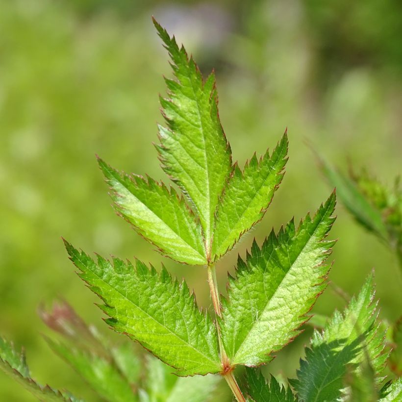
{"type": "Polygon", "coordinates": [[[219,376],[177,377],[171,367],[148,356],[147,381],[140,402],[206,402],[220,381],[219,376]]]}

